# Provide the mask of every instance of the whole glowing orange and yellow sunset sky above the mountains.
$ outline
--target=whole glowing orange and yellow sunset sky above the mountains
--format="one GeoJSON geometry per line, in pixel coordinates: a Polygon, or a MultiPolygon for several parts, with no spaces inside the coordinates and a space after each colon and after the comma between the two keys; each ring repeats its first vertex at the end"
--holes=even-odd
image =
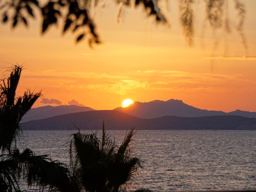
{"type": "MultiPolygon", "coordinates": [[[[147,19],[142,8],[125,9],[117,24],[118,6],[109,3],[94,13],[103,41],[94,49],[86,40],[75,44],[75,36],[61,35],[61,26],[40,35],[40,18],[31,21],[28,29],[12,30],[1,24],[1,77],[11,65],[25,65],[18,93],[26,88],[42,90],[48,99],[45,104],[113,109],[126,98],[140,102],[180,99],[202,109],[256,111],[256,1],[243,2],[247,57],[236,31],[214,37],[211,29],[203,30],[200,3],[195,5],[192,47],[184,40],[177,1],[170,1],[171,27],[147,19]],[[214,49],[216,39],[218,49],[214,49]]],[[[230,18],[235,22],[233,12],[230,18]]],[[[40,100],[35,104],[42,105],[40,100]]]]}

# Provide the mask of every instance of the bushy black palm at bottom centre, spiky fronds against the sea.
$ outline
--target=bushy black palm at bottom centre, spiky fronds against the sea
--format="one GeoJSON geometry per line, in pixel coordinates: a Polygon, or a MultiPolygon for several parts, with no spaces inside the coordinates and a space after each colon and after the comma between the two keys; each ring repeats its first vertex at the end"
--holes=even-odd
{"type": "Polygon", "coordinates": [[[81,191],[120,191],[125,189],[140,165],[140,159],[131,156],[133,129],[120,147],[115,145],[104,129],[97,133],[73,134],[70,142],[70,172],[81,191]]]}

